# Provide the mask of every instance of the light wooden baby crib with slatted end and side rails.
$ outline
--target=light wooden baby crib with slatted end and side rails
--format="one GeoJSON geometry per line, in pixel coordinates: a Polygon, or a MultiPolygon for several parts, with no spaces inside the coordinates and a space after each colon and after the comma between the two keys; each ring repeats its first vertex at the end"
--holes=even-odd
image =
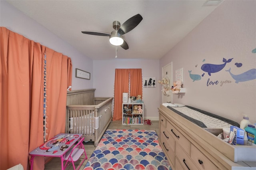
{"type": "Polygon", "coordinates": [[[84,141],[94,141],[96,146],[112,120],[112,100],[95,97],[95,105],[68,105],[66,133],[82,133],[84,141]]]}

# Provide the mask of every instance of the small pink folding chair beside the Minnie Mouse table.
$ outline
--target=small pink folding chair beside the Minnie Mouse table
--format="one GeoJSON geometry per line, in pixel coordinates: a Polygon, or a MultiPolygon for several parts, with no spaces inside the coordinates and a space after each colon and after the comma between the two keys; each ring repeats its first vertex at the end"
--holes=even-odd
{"type": "Polygon", "coordinates": [[[79,166],[77,168],[77,170],[78,170],[82,166],[84,161],[87,159],[83,141],[84,141],[84,137],[80,138],[78,143],[72,149],[68,150],[68,152],[65,154],[65,156],[63,158],[63,162],[66,161],[66,164],[64,165],[64,169],[70,164],[70,162],[72,162],[73,168],[74,168],[74,170],[76,170],[74,162],[76,162],[84,154],[84,159],[79,164],[79,166]]]}

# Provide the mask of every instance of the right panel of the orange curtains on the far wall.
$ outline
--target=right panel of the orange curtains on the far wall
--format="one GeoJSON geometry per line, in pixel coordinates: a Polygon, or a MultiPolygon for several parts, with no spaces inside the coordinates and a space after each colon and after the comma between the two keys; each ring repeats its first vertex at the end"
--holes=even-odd
{"type": "Polygon", "coordinates": [[[142,99],[142,69],[130,70],[130,96],[141,95],[142,99]]]}

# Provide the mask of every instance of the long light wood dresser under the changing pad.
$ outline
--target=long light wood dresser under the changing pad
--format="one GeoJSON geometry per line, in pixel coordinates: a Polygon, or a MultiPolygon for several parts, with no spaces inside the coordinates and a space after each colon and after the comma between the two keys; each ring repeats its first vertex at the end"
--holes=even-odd
{"type": "MultiPolygon", "coordinates": [[[[256,170],[256,146],[234,146],[160,105],[159,143],[172,170],[256,170]]],[[[215,134],[216,133],[216,134],[215,134]]]]}

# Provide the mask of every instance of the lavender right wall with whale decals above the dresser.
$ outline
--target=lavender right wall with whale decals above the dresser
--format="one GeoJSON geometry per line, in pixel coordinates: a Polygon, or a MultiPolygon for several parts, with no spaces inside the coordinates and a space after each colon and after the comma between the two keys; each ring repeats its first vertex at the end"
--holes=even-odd
{"type": "Polygon", "coordinates": [[[256,122],[256,79],[235,83],[230,73],[225,71],[231,68],[231,73],[240,75],[256,69],[256,53],[252,53],[256,48],[255,17],[255,0],[225,0],[160,59],[160,68],[173,62],[174,79],[175,70],[184,69],[183,87],[186,93],[173,95],[174,103],[197,107],[238,123],[242,120],[242,114],[246,114],[252,123],[256,122]],[[234,59],[211,76],[202,71],[203,64],[220,65],[223,58],[234,59]],[[235,63],[242,63],[242,67],[237,67],[235,63]],[[189,70],[192,74],[205,73],[204,77],[193,82],[189,70]],[[207,86],[208,79],[219,83],[207,86]],[[221,81],[232,82],[221,85],[221,81]]]}

